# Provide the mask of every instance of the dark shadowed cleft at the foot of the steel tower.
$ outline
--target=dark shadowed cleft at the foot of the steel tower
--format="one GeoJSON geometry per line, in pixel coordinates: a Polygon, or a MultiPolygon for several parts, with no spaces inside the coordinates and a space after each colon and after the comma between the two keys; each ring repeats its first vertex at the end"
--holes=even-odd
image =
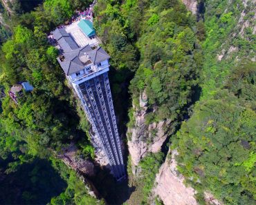
{"type": "Polygon", "coordinates": [[[128,186],[128,179],[117,182],[108,168],[95,166],[95,176],[88,177],[107,204],[123,204],[129,199],[135,187],[128,186]]]}

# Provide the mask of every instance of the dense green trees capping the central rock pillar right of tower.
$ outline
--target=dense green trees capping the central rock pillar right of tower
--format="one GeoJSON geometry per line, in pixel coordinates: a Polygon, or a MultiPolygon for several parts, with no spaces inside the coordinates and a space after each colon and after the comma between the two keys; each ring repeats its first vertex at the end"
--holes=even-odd
{"type": "MultiPolygon", "coordinates": [[[[176,121],[191,102],[201,69],[201,52],[193,31],[195,21],[179,1],[159,6],[152,2],[146,11],[145,28],[137,42],[140,66],[130,90],[133,99],[145,90],[148,109],[154,108],[147,114],[148,124],[164,119],[176,121]]],[[[138,106],[136,100],[134,104],[138,106]]]]}

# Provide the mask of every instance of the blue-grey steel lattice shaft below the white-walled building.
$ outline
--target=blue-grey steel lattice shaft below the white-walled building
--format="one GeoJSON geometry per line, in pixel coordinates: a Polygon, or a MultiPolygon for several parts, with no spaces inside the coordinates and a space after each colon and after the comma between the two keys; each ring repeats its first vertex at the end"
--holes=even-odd
{"type": "Polygon", "coordinates": [[[113,175],[118,180],[122,179],[125,177],[125,166],[107,72],[78,84],[76,90],[113,175]]]}

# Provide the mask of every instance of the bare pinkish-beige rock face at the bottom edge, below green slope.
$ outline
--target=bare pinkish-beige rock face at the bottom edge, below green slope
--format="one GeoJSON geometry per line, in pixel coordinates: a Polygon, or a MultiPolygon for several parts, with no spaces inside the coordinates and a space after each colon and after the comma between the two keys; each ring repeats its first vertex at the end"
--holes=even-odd
{"type": "Polygon", "coordinates": [[[179,175],[176,169],[175,155],[177,153],[174,150],[172,158],[168,159],[167,156],[165,163],[159,169],[152,194],[154,197],[160,197],[165,205],[196,205],[195,191],[183,184],[184,177],[179,175]]]}

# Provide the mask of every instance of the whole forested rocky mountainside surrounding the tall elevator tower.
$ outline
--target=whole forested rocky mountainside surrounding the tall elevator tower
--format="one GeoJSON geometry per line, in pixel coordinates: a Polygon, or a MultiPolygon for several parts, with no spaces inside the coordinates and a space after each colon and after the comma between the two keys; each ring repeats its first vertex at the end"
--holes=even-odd
{"type": "Polygon", "coordinates": [[[46,35],[90,3],[2,1],[0,181],[15,195],[8,190],[31,167],[26,187],[47,190],[18,186],[12,203],[255,204],[256,2],[97,1],[127,164],[119,184],[98,164],[46,35]],[[35,89],[16,104],[8,91],[25,80],[35,89]],[[60,184],[48,189],[53,176],[60,184]]]}

